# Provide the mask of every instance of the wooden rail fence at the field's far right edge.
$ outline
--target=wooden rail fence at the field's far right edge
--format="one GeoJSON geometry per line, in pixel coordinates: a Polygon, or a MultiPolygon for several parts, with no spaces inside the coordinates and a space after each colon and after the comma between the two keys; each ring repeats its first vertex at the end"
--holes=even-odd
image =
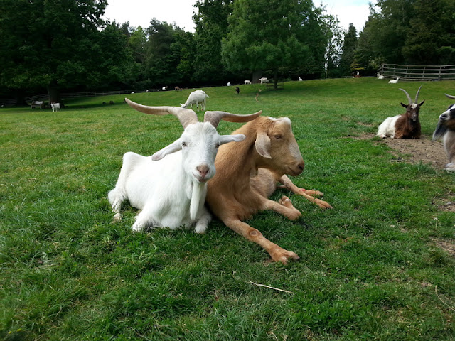
{"type": "Polygon", "coordinates": [[[455,65],[382,64],[378,73],[400,80],[455,80],[455,65]]]}

